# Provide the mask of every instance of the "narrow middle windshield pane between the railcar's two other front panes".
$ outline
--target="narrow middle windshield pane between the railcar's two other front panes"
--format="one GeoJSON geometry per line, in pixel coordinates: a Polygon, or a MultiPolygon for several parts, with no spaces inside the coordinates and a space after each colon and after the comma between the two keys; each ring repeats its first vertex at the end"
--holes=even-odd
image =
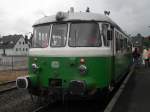
{"type": "Polygon", "coordinates": [[[53,24],[51,47],[64,47],[67,40],[67,24],[53,24]]]}

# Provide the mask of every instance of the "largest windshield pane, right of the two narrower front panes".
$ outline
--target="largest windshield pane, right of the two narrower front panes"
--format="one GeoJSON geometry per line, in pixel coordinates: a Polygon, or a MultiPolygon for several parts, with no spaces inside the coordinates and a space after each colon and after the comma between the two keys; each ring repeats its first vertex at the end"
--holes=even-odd
{"type": "Polygon", "coordinates": [[[101,44],[99,25],[97,23],[87,22],[71,24],[69,46],[99,47],[101,44]]]}

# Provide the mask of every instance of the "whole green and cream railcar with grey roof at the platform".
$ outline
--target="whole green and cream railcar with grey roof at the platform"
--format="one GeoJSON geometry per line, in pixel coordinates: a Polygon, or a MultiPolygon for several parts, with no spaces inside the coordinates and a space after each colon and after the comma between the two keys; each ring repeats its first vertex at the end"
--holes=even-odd
{"type": "Polygon", "coordinates": [[[59,12],[33,28],[29,76],[16,81],[33,95],[93,95],[117,83],[131,64],[128,36],[105,15],[59,12]]]}

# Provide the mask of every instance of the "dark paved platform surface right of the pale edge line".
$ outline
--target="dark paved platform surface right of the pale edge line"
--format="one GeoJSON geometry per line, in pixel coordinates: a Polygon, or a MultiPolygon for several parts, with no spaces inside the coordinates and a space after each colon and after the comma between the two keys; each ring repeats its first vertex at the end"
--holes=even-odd
{"type": "Polygon", "coordinates": [[[135,68],[112,112],[150,112],[150,68],[135,68]]]}

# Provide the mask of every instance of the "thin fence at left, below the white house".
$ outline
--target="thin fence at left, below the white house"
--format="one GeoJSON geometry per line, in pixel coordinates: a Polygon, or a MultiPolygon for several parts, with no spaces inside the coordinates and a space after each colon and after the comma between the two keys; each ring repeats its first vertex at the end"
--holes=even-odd
{"type": "Polygon", "coordinates": [[[28,58],[26,56],[1,56],[0,70],[26,70],[28,58]]]}

